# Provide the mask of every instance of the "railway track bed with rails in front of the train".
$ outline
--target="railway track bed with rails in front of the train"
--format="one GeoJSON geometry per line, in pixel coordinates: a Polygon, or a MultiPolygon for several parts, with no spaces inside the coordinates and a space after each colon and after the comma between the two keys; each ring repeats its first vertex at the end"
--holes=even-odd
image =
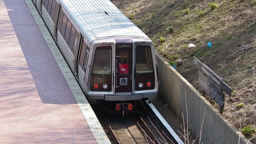
{"type": "MultiPolygon", "coordinates": [[[[146,103],[140,103],[137,113],[107,113],[93,108],[111,143],[183,143],[172,136],[166,124],[146,103]]],[[[176,135],[176,134],[175,134],[176,135]]]]}

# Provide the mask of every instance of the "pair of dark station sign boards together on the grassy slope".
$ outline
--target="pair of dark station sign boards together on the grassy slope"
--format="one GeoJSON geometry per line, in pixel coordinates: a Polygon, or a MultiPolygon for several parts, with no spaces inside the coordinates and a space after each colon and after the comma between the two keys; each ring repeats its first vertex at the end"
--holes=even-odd
{"type": "Polygon", "coordinates": [[[198,68],[198,85],[204,90],[205,93],[220,106],[220,113],[223,113],[225,96],[227,93],[231,96],[231,88],[223,82],[223,79],[219,77],[214,71],[212,71],[204,63],[201,63],[197,58],[194,57],[195,66],[198,68]]]}

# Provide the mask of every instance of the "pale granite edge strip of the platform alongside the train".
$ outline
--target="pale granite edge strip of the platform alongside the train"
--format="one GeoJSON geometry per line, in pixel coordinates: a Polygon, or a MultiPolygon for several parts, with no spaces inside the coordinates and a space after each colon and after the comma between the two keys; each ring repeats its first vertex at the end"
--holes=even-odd
{"type": "Polygon", "coordinates": [[[27,3],[27,6],[32,16],[36,21],[36,24],[39,27],[40,32],[44,37],[44,40],[46,41],[48,47],[50,48],[50,51],[54,56],[54,59],[57,62],[59,69],[63,74],[63,77],[65,77],[65,80],[69,85],[69,88],[73,93],[73,96],[76,99],[82,114],[84,115],[84,119],[88,123],[88,126],[91,128],[91,131],[95,136],[97,143],[110,143],[110,140],[107,138],[106,133],[101,127],[101,124],[99,123],[99,120],[97,119],[95,113],[93,112],[91,105],[88,103],[88,100],[85,98],[84,93],[82,92],[80,86],[78,85],[76,79],[74,78],[74,75],[71,73],[69,66],[67,66],[65,59],[63,58],[57,45],[52,39],[50,32],[48,32],[46,25],[44,25],[44,22],[40,17],[39,13],[37,12],[35,6],[33,5],[32,1],[25,0],[25,3],[27,3]]]}

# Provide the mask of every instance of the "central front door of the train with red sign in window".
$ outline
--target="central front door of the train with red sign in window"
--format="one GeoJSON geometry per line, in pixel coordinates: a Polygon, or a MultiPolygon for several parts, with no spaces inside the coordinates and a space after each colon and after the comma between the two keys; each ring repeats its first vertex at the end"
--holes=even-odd
{"type": "Polygon", "coordinates": [[[131,93],[133,75],[132,44],[116,44],[115,93],[131,93]]]}

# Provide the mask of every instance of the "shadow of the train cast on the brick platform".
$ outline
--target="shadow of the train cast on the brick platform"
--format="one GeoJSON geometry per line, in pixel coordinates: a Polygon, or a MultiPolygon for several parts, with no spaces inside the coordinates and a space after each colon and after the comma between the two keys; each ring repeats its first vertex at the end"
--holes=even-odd
{"type": "Polygon", "coordinates": [[[15,4],[6,3],[6,8],[27,62],[25,68],[15,68],[18,71],[25,69],[17,78],[24,77],[24,73],[27,77],[32,75],[32,79],[26,79],[27,82],[17,84],[16,81],[16,84],[24,86],[22,89],[35,91],[33,95],[39,96],[43,103],[77,104],[32,15],[15,4]]]}

